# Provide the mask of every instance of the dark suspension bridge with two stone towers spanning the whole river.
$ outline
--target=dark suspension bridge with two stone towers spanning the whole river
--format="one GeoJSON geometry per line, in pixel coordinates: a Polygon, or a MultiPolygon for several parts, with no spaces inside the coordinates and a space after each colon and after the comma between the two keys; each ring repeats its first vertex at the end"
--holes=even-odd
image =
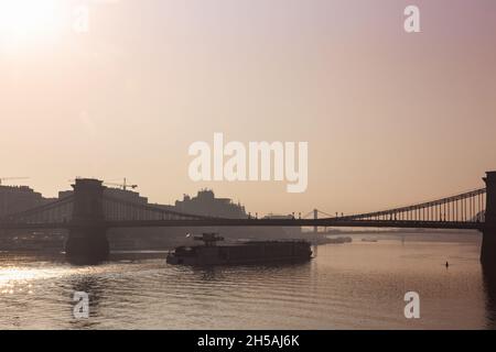
{"type": "Polygon", "coordinates": [[[483,178],[486,186],[441,199],[358,215],[319,218],[227,219],[171,211],[161,206],[126,201],[105,194],[97,179],[76,179],[71,196],[0,219],[0,230],[67,229],[68,256],[106,258],[106,231],[111,228],[158,227],[355,227],[479,230],[482,260],[496,261],[496,172],[483,178]]]}

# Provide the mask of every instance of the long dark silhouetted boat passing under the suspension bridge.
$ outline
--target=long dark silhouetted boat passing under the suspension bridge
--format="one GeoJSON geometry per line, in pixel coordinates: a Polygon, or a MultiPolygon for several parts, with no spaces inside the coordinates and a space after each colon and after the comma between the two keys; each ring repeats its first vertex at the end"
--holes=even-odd
{"type": "Polygon", "coordinates": [[[166,262],[176,265],[236,265],[304,262],[312,257],[311,243],[302,240],[218,245],[217,242],[224,238],[217,233],[204,233],[194,239],[204,244],[179,246],[168,255],[166,262]]]}

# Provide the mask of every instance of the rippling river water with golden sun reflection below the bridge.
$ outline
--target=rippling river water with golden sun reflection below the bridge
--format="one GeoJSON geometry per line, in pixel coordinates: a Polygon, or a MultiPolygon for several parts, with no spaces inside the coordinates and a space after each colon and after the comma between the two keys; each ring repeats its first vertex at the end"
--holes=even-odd
{"type": "Polygon", "coordinates": [[[1,253],[0,329],[494,329],[479,241],[320,245],[305,264],[194,268],[164,253],[98,266],[1,253]],[[450,266],[445,267],[445,262],[450,266]],[[76,319],[74,293],[89,295],[76,319]],[[407,292],[420,318],[406,319],[407,292]]]}

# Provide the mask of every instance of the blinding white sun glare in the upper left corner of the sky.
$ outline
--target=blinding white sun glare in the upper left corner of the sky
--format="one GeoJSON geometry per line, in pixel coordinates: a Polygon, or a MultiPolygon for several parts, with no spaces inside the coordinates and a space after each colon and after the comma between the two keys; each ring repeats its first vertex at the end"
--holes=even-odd
{"type": "Polygon", "coordinates": [[[0,0],[0,41],[18,46],[54,38],[60,10],[60,0],[0,0]]]}

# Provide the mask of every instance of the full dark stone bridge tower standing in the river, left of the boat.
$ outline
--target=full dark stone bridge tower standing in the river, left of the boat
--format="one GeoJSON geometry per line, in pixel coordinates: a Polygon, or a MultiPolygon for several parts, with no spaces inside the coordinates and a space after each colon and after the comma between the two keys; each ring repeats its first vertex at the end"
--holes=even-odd
{"type": "Polygon", "coordinates": [[[69,261],[91,264],[109,254],[104,215],[104,185],[97,179],[76,179],[74,209],[65,253],[69,261]]]}

